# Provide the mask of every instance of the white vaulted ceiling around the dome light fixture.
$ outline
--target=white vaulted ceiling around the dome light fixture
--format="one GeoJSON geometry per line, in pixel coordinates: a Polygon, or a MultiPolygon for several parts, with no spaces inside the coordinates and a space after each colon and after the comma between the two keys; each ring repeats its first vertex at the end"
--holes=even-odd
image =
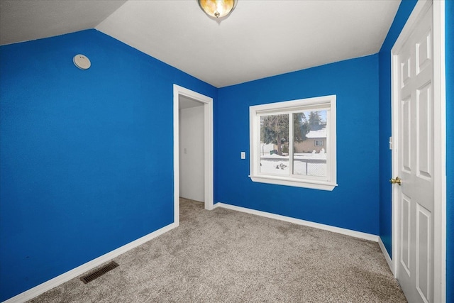
{"type": "Polygon", "coordinates": [[[215,87],[377,53],[400,0],[239,0],[218,22],[196,0],[0,0],[0,44],[87,28],[215,87]]]}

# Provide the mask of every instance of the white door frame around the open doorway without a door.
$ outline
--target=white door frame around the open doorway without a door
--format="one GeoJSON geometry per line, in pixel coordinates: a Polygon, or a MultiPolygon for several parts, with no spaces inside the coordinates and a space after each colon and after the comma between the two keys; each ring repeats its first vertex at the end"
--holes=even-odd
{"type": "Polygon", "coordinates": [[[173,84],[173,197],[174,223],[179,226],[179,96],[204,104],[204,198],[205,209],[213,209],[213,98],[173,84]]]}

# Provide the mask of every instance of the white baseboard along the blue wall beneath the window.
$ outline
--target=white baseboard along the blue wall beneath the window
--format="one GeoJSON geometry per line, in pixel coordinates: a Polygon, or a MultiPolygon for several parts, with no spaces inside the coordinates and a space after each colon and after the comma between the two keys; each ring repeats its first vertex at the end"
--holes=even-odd
{"type": "Polygon", "coordinates": [[[318,229],[323,229],[323,231],[331,231],[333,233],[341,233],[346,236],[352,236],[355,238],[361,238],[364,240],[369,240],[369,241],[374,241],[378,242],[379,236],[377,235],[372,235],[372,233],[362,233],[361,231],[352,231],[351,229],[346,229],[346,228],[341,228],[341,227],[336,227],[336,226],[331,226],[331,225],[326,225],[326,224],[320,224],[316,222],[311,222],[311,221],[306,221],[306,220],[301,220],[301,219],[296,219],[292,218],[290,216],[282,216],[280,214],[272,214],[266,211],[258,211],[255,209],[248,209],[245,207],[241,206],[235,206],[231,204],[226,204],[222,202],[218,202],[215,204],[214,208],[217,207],[223,207],[224,209],[231,209],[234,211],[241,211],[247,214],[255,214],[256,216],[264,216],[265,218],[270,218],[270,219],[275,219],[279,221],[285,221],[293,224],[298,224],[298,225],[304,225],[304,226],[309,226],[313,228],[318,228],[318,229]]]}

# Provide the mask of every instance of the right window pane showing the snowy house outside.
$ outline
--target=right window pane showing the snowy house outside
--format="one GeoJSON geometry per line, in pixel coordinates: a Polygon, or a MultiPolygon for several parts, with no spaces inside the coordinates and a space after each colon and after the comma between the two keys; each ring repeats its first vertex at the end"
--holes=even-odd
{"type": "Polygon", "coordinates": [[[326,177],[326,110],[293,114],[293,174],[326,177]]]}

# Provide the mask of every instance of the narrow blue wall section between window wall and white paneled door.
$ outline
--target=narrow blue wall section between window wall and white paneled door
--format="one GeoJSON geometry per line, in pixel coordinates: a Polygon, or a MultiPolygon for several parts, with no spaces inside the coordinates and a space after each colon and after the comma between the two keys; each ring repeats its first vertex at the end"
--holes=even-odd
{"type": "Polygon", "coordinates": [[[406,20],[416,5],[416,0],[402,1],[394,17],[392,26],[379,53],[380,57],[380,238],[392,257],[392,218],[391,218],[391,49],[399,37],[406,20]]]}

